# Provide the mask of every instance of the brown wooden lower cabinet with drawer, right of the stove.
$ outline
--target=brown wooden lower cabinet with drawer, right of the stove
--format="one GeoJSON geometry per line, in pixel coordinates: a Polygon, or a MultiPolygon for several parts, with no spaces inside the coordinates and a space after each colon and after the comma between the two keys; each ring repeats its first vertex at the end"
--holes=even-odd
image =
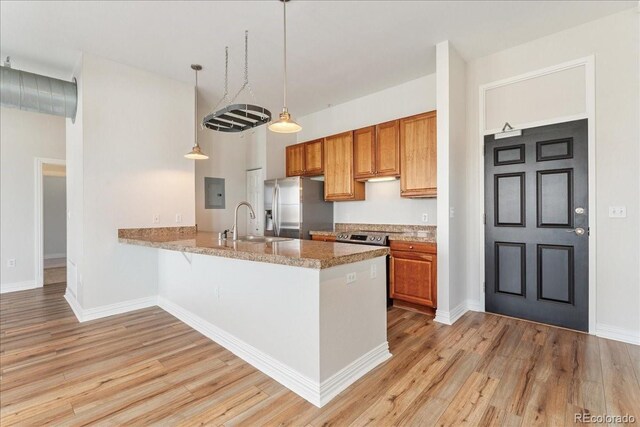
{"type": "Polygon", "coordinates": [[[391,242],[391,298],[435,309],[438,306],[437,251],[434,243],[391,242]]]}

